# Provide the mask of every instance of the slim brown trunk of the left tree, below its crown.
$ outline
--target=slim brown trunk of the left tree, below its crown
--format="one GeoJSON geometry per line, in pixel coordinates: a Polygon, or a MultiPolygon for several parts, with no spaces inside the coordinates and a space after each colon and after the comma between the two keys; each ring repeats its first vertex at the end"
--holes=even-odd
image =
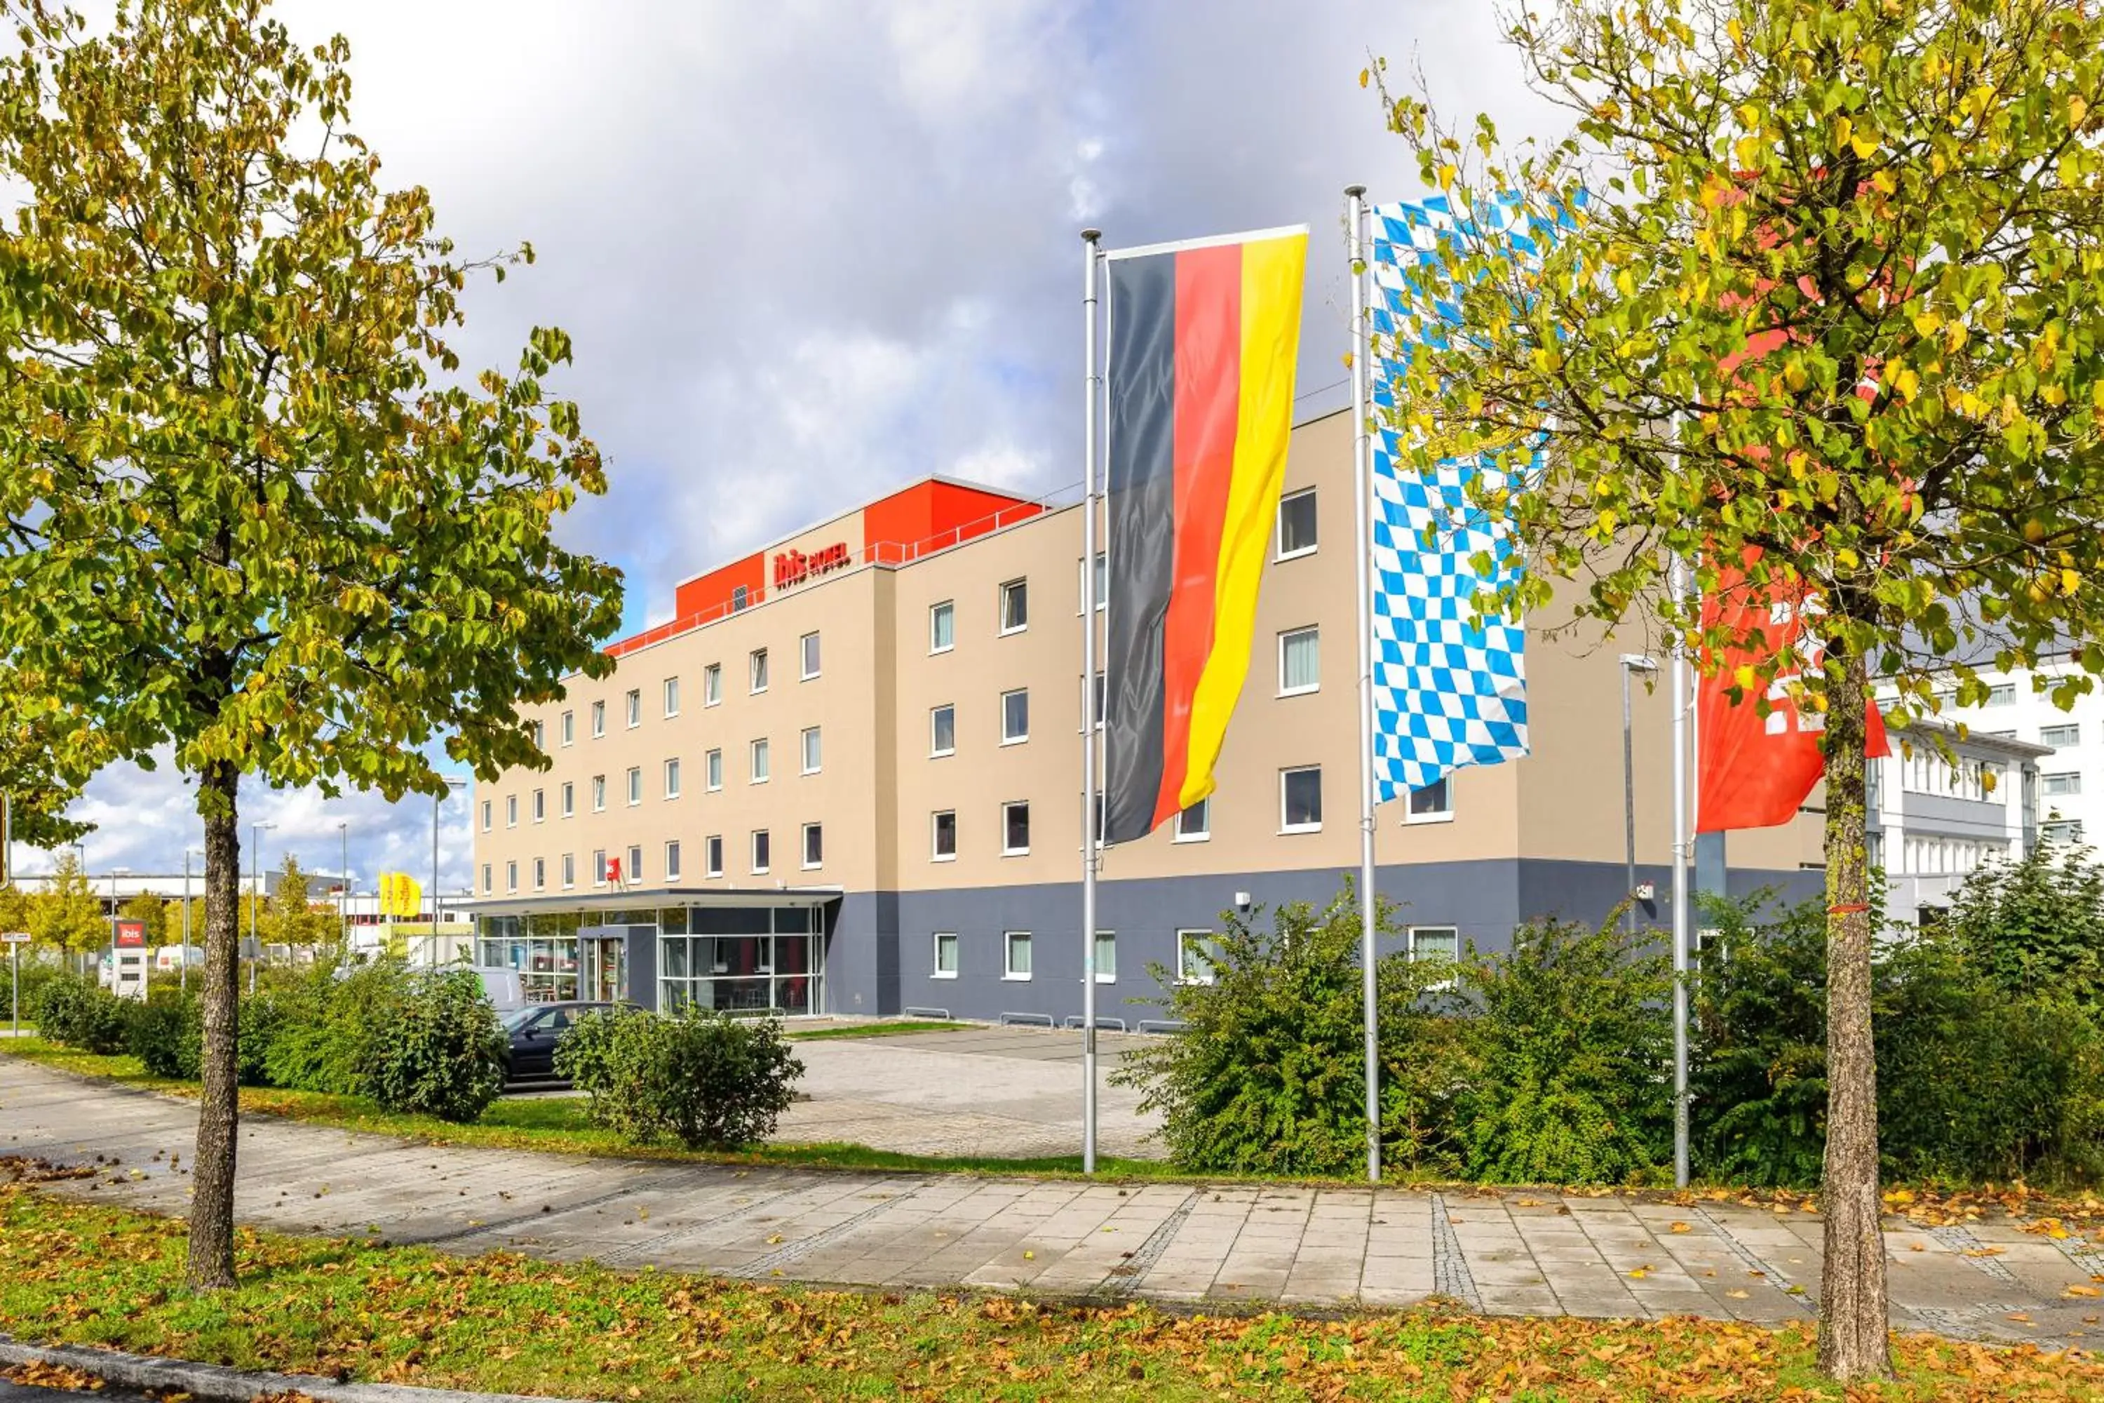
{"type": "Polygon", "coordinates": [[[191,1157],[189,1287],[234,1285],[234,1151],[240,1134],[240,772],[215,761],[198,776],[204,814],[204,1096],[191,1157]]]}

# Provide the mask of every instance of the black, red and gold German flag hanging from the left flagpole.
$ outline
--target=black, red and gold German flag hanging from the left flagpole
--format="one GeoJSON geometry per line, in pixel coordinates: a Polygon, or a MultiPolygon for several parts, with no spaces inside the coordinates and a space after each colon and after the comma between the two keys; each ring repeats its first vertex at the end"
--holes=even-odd
{"type": "Polygon", "coordinates": [[[1102,839],[1212,793],[1286,480],[1307,225],[1107,252],[1102,839]]]}

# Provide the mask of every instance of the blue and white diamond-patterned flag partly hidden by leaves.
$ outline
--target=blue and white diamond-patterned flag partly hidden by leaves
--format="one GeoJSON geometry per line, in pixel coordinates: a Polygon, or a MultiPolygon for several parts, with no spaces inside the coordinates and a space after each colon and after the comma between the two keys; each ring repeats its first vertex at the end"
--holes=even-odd
{"type": "MultiPolygon", "coordinates": [[[[1437,263],[1439,244],[1504,240],[1521,259],[1540,257],[1555,223],[1517,200],[1456,212],[1441,198],[1372,210],[1374,406],[1393,408],[1393,377],[1408,355],[1412,271],[1437,263]]],[[[1439,305],[1448,322],[1460,309],[1439,305]]],[[[1538,465],[1538,459],[1536,459],[1538,465]]],[[[1437,785],[1462,766],[1494,766],[1528,753],[1525,625],[1475,618],[1479,591],[1519,572],[1506,522],[1469,503],[1469,484],[1500,486],[1494,463],[1445,461],[1433,473],[1408,463],[1393,429],[1374,433],[1374,801],[1437,785]],[[1429,532],[1429,545],[1427,545],[1429,532]],[[1488,555],[1492,574],[1471,564],[1488,555]]],[[[1513,488],[1525,484],[1515,482],[1513,488]]]]}

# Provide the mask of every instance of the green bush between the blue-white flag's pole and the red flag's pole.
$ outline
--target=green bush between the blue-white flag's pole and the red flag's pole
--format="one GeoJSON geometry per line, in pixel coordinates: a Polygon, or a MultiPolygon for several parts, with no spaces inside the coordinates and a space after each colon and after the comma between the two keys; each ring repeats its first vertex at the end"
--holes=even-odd
{"type": "Polygon", "coordinates": [[[1456,1096],[1471,1178],[1620,1184],[1673,1157],[1673,974],[1656,934],[1542,921],[1460,965],[1475,1014],[1456,1096]]]}

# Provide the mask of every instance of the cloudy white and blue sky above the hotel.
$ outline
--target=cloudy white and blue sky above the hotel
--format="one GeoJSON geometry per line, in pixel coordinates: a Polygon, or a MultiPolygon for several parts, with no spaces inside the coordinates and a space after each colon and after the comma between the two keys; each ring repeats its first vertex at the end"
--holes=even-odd
{"type": "MultiPolygon", "coordinates": [[[[951,473],[1081,480],[1081,246],[1311,225],[1300,412],[1349,402],[1342,189],[1412,198],[1357,84],[1422,72],[1441,111],[1561,135],[1485,0],[280,0],[351,44],[351,126],[425,185],[463,255],[537,265],[467,297],[469,366],[570,332],[553,387],[608,463],[562,538],[627,574],[625,631],[673,583],[951,473]]],[[[469,871],[438,810],[440,886],[469,871]]],[[[200,846],[166,764],[76,806],[90,871],[179,873],[200,846]]],[[[242,793],[267,865],[362,890],[431,871],[433,804],[242,793]],[[339,825],[345,829],[339,831],[339,825]]],[[[17,852],[23,871],[48,856],[17,852]]]]}

